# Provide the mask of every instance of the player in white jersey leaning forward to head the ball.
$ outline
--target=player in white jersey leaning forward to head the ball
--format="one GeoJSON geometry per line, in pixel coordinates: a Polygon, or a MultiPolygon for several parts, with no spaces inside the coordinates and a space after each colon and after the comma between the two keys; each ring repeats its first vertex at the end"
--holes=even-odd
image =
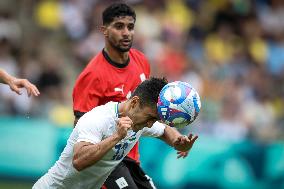
{"type": "Polygon", "coordinates": [[[158,96],[166,84],[165,79],[145,80],[127,101],[109,102],[84,114],[59,160],[33,189],[99,189],[141,135],[159,137],[179,151],[190,150],[196,137],[156,122],[158,96]]]}

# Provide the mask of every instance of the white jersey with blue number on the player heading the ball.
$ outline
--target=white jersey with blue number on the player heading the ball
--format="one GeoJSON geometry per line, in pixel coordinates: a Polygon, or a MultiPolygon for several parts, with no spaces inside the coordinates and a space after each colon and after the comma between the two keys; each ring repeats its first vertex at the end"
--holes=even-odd
{"type": "Polygon", "coordinates": [[[163,135],[165,129],[163,124],[156,122],[152,128],[144,128],[138,132],[130,130],[127,136],[100,161],[80,172],[77,171],[72,164],[75,143],[81,141],[99,143],[116,132],[117,121],[118,103],[116,102],[98,106],[83,115],[71,133],[59,160],[35,183],[33,189],[99,189],[141,135],[158,137],[163,135]]]}

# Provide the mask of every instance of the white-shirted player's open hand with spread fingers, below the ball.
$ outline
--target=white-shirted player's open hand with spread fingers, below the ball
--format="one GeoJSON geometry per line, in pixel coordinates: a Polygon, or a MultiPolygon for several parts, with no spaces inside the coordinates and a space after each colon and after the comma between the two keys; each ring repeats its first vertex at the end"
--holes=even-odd
{"type": "MultiPolygon", "coordinates": [[[[188,136],[181,135],[174,142],[174,148],[178,151],[181,151],[181,152],[187,152],[192,148],[192,146],[193,146],[193,144],[194,144],[194,142],[196,141],[197,138],[198,138],[198,136],[197,135],[193,136],[193,134],[189,134],[188,136]]],[[[183,157],[184,155],[185,154],[181,154],[180,157],[183,157]]],[[[187,154],[186,154],[186,156],[187,156],[187,154]]]]}

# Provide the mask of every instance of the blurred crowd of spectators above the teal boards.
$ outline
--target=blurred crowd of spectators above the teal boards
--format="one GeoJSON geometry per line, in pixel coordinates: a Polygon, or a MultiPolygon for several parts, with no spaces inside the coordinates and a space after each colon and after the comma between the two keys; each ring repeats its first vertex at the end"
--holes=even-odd
{"type": "MultiPolygon", "coordinates": [[[[72,125],[72,87],[104,47],[101,11],[110,0],[0,3],[0,67],[29,79],[40,97],[0,86],[0,114],[72,125]]],[[[199,133],[240,141],[284,139],[284,1],[129,0],[134,48],[152,75],[200,93],[199,133]]]]}

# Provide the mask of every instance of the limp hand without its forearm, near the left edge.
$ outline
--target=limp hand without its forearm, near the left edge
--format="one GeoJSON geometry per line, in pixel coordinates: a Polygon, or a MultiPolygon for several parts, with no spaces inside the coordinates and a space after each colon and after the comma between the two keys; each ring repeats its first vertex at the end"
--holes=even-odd
{"type": "Polygon", "coordinates": [[[40,94],[37,87],[30,83],[27,79],[12,79],[8,85],[10,86],[11,90],[16,92],[17,94],[21,95],[20,88],[25,88],[27,90],[28,96],[34,95],[38,96],[40,94]]]}

